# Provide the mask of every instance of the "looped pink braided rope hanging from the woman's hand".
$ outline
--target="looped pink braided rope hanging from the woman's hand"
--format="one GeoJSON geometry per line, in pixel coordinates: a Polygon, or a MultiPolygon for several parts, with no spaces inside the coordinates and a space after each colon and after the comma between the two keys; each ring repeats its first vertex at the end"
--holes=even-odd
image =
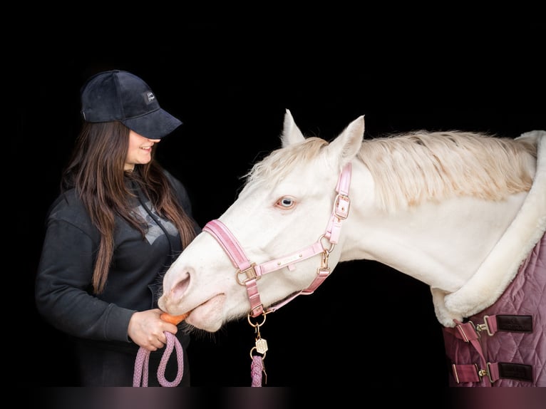
{"type": "MultiPolygon", "coordinates": [[[[167,345],[165,346],[165,351],[163,356],[161,356],[161,361],[158,366],[158,381],[161,386],[173,387],[177,386],[182,380],[182,375],[184,373],[184,352],[182,351],[182,345],[180,341],[172,333],[165,331],[165,336],[167,336],[167,345]],[[177,362],[178,362],[178,372],[176,378],[172,381],[169,381],[165,378],[165,368],[167,368],[167,363],[172,353],[172,349],[176,349],[177,362]]],[[[148,386],[148,364],[150,362],[150,351],[140,347],[135,359],[135,372],[133,374],[133,387],[137,388],[142,386],[145,388],[148,386]]]]}

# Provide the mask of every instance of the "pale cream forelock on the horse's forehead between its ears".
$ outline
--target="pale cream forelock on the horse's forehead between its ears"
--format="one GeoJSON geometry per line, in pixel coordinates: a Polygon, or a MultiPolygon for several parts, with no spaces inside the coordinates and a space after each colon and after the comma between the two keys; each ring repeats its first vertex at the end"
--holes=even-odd
{"type": "Polygon", "coordinates": [[[311,137],[302,143],[295,143],[272,151],[263,160],[252,166],[252,169],[244,175],[247,184],[265,183],[268,187],[277,185],[284,180],[297,165],[311,162],[319,156],[321,148],[328,145],[324,139],[311,137]]]}

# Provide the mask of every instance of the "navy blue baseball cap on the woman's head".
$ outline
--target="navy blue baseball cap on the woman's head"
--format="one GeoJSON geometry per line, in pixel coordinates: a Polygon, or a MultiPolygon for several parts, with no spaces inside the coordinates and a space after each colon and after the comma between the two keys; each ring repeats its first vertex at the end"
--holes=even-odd
{"type": "Polygon", "coordinates": [[[98,73],[81,88],[81,114],[86,122],[118,120],[149,139],[161,139],[182,122],[160,108],[147,83],[127,71],[98,73]]]}

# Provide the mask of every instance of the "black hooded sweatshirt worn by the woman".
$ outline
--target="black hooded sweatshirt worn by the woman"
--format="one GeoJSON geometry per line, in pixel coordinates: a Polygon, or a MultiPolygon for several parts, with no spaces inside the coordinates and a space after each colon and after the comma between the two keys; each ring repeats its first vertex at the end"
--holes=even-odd
{"type": "MultiPolygon", "coordinates": [[[[185,187],[168,174],[185,212],[192,217],[185,187]]],[[[133,185],[137,211],[148,222],[146,239],[116,216],[114,256],[103,293],[92,294],[91,278],[100,235],[75,190],[68,190],[48,213],[36,276],[36,307],[52,326],[98,347],[137,351],[127,328],[135,311],[158,308],[163,274],[182,251],[180,234],[160,219],[133,185]]],[[[200,228],[195,224],[196,232],[200,228]]],[[[182,346],[189,336],[178,331],[182,346]]]]}

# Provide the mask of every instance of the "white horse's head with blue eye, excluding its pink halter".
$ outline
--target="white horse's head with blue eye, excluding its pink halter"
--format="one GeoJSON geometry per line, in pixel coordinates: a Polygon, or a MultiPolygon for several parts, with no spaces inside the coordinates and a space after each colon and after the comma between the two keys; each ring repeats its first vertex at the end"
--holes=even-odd
{"type": "MultiPolygon", "coordinates": [[[[283,266],[270,274],[255,269],[254,290],[264,309],[306,289],[317,268],[331,271],[339,262],[341,254],[331,242],[338,237],[324,234],[341,170],[357,155],[363,138],[364,116],[328,143],[304,138],[287,110],[282,147],[254,164],[237,200],[217,219],[254,267],[271,261],[283,266]],[[298,259],[299,250],[307,257],[298,259]]],[[[340,222],[334,214],[333,223],[340,222]]],[[[160,308],[173,315],[191,311],[186,322],[210,332],[246,316],[253,306],[247,277],[236,267],[210,231],[201,232],[165,274],[160,308]]]]}

